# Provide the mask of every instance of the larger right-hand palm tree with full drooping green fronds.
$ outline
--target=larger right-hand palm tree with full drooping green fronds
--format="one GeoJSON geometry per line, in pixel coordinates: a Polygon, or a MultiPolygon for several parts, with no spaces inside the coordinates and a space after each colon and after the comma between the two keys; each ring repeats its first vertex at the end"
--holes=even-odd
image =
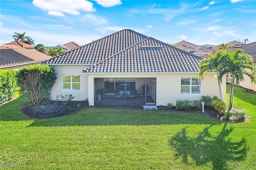
{"type": "Polygon", "coordinates": [[[227,50],[222,57],[222,63],[219,66],[218,80],[221,82],[222,76],[225,74],[231,74],[230,92],[229,92],[229,106],[228,110],[231,110],[234,96],[234,86],[238,85],[244,80],[244,74],[248,75],[252,84],[256,82],[255,73],[256,68],[253,63],[252,56],[248,54],[242,54],[242,49],[236,51],[227,50]]]}

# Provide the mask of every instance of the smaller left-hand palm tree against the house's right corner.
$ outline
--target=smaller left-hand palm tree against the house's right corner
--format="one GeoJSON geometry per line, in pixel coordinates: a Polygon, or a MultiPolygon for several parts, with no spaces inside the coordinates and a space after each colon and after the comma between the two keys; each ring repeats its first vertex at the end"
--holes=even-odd
{"type": "MultiPolygon", "coordinates": [[[[199,74],[198,77],[202,80],[204,80],[203,78],[203,74],[204,73],[208,73],[208,71],[214,71],[217,73],[217,77],[219,74],[219,65],[223,56],[223,51],[222,50],[218,50],[215,54],[210,53],[209,54],[211,57],[207,58],[207,59],[202,59],[199,62],[199,74]]],[[[220,87],[220,81],[218,80],[218,86],[219,86],[219,92],[220,92],[220,99],[222,100],[222,92],[221,92],[221,87],[220,87]]]]}

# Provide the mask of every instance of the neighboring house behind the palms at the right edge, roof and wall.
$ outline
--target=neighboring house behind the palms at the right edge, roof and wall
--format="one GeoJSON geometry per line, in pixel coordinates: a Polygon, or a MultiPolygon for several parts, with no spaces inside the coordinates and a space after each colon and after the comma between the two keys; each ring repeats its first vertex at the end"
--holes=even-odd
{"type": "MultiPolygon", "coordinates": [[[[236,49],[243,49],[244,51],[242,53],[252,56],[253,63],[256,66],[256,42],[250,43],[250,44],[238,44],[238,45],[234,45],[232,47],[228,47],[227,49],[229,49],[231,51],[236,51],[236,49]]],[[[255,75],[255,77],[256,77],[256,75],[255,75]]],[[[230,79],[231,79],[231,76],[228,75],[227,81],[230,82],[230,79]]],[[[254,90],[256,92],[256,84],[255,83],[252,84],[251,79],[247,75],[244,76],[244,81],[240,82],[239,85],[244,88],[254,90]]]]}

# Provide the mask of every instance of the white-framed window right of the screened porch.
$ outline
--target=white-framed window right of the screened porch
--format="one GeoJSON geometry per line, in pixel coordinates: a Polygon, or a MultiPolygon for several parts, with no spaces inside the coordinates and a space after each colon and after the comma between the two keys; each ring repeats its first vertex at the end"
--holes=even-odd
{"type": "Polygon", "coordinates": [[[201,94],[201,80],[199,78],[181,78],[181,94],[201,94]]]}

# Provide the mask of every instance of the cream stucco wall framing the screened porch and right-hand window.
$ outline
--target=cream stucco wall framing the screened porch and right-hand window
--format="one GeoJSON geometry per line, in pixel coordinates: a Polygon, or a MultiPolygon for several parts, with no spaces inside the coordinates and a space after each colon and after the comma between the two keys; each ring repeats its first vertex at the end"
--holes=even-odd
{"type": "MultiPolygon", "coordinates": [[[[176,100],[199,100],[201,96],[218,96],[218,81],[214,79],[214,74],[205,74],[202,81],[201,94],[180,94],[180,80],[183,77],[198,77],[198,73],[180,73],[180,74],[89,74],[88,92],[89,105],[94,106],[94,78],[156,78],[156,105],[166,106],[169,102],[176,100]]],[[[226,77],[223,77],[221,84],[222,98],[226,99],[226,77]]],[[[82,93],[81,93],[82,95],[82,93]]]]}

